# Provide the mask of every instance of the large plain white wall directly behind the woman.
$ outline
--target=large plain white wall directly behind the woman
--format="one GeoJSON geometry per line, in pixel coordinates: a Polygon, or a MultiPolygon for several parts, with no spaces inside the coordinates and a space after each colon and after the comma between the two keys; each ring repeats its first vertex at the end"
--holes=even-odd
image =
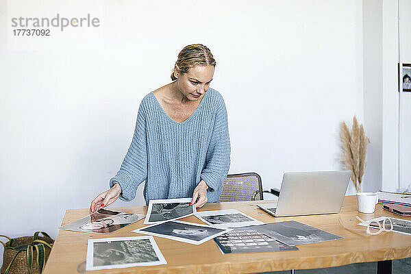
{"type": "MultiPolygon", "coordinates": [[[[52,8],[66,5],[75,2],[52,8]]],[[[278,188],[284,171],[342,168],[340,122],[364,117],[361,1],[104,5],[102,49],[14,51],[0,0],[1,234],[56,236],[64,210],[88,208],[119,169],[140,100],[170,82],[193,42],[216,58],[230,173],[256,171],[264,188],[278,188]]]]}

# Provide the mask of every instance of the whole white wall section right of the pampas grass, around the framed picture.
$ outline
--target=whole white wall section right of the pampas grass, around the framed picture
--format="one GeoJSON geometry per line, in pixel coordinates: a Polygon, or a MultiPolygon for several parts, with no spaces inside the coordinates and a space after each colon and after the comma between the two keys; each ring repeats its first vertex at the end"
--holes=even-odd
{"type": "Polygon", "coordinates": [[[411,190],[411,93],[398,63],[411,63],[411,1],[364,0],[364,121],[371,138],[363,190],[411,190]]]}

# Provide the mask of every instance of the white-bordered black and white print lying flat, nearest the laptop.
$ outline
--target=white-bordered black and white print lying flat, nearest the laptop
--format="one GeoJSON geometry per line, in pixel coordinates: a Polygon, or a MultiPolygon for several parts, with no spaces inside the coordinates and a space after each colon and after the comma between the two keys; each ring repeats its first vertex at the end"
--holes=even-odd
{"type": "Polygon", "coordinates": [[[218,228],[246,227],[249,225],[264,225],[263,222],[254,219],[238,210],[210,210],[195,214],[204,223],[218,228]]]}

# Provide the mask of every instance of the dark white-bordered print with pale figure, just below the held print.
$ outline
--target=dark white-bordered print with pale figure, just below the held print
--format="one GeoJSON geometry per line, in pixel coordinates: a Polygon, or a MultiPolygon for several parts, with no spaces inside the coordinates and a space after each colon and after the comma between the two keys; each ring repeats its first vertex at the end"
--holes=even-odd
{"type": "Polygon", "coordinates": [[[148,227],[142,227],[133,232],[159,236],[180,242],[188,242],[193,245],[201,245],[212,238],[232,231],[232,229],[219,229],[198,223],[184,221],[167,221],[148,227]]]}

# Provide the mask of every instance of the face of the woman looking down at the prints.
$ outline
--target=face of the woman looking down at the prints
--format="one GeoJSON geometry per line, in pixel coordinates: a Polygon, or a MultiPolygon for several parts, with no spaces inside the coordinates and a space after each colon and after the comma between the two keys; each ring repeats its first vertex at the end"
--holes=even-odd
{"type": "Polygon", "coordinates": [[[198,101],[203,97],[210,87],[214,66],[193,66],[187,73],[179,73],[175,67],[177,87],[180,92],[190,101],[198,101]]]}

